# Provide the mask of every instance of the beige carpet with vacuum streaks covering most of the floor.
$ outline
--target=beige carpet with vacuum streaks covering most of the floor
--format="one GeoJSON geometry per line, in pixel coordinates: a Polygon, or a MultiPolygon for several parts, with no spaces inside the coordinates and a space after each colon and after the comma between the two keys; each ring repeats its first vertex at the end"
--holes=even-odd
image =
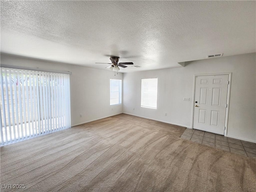
{"type": "Polygon", "coordinates": [[[183,131],[120,114],[4,146],[1,184],[30,192],[256,191],[254,158],[183,140],[183,131]]]}

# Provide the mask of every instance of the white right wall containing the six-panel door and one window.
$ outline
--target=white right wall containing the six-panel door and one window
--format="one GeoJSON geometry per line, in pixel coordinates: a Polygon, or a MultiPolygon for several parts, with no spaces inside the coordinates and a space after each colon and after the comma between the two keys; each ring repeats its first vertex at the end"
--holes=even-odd
{"type": "Polygon", "coordinates": [[[255,53],[193,61],[182,68],[125,73],[124,113],[191,128],[194,74],[223,72],[232,72],[227,136],[256,142],[255,53]],[[156,77],[157,109],[142,108],[141,79],[156,77]]]}

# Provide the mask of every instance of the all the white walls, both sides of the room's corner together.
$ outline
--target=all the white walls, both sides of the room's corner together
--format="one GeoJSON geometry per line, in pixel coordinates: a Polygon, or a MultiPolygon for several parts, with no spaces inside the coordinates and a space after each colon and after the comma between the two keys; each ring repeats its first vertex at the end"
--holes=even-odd
{"type": "Polygon", "coordinates": [[[72,125],[125,112],[192,127],[194,74],[232,72],[227,136],[256,142],[255,53],[193,61],[184,68],[120,73],[118,76],[107,70],[5,54],[1,54],[1,64],[71,71],[72,125]],[[122,79],[123,76],[123,105],[110,106],[109,79],[122,79]],[[141,108],[141,78],[154,77],[158,78],[158,108],[141,108]],[[190,101],[183,101],[183,97],[189,97],[190,101]],[[167,116],[164,116],[164,113],[167,113],[167,116]]]}

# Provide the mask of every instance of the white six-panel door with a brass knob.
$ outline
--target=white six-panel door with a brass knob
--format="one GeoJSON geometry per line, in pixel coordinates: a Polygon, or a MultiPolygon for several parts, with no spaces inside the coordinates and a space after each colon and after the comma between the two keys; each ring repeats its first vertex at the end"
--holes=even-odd
{"type": "Polygon", "coordinates": [[[224,135],[228,75],[196,76],[194,129],[224,135]]]}

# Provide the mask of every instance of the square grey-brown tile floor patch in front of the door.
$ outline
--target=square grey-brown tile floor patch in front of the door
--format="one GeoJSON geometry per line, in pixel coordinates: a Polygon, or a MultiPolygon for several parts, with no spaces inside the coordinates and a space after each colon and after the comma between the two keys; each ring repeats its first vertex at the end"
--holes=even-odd
{"type": "Polygon", "coordinates": [[[188,128],[186,128],[180,138],[228,152],[256,158],[256,144],[252,142],[242,141],[225,137],[223,135],[188,128]]]}

